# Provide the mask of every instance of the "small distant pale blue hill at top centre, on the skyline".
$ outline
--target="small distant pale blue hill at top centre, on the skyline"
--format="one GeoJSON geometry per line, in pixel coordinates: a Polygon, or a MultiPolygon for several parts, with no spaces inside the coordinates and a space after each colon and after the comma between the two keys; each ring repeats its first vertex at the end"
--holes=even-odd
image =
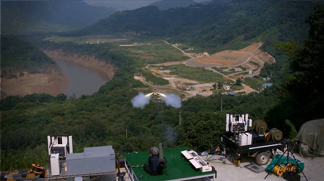
{"type": "Polygon", "coordinates": [[[160,10],[167,10],[174,7],[188,7],[191,4],[195,4],[195,2],[193,0],[160,0],[149,6],[158,6],[160,10]]]}

